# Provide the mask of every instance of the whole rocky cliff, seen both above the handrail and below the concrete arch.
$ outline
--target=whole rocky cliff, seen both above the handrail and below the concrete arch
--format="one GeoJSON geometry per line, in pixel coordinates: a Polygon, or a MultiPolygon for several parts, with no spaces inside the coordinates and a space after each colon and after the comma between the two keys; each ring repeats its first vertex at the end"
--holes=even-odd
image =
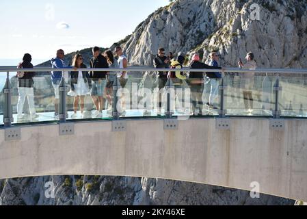
{"type": "MultiPolygon", "coordinates": [[[[253,51],[260,67],[307,68],[306,0],[178,0],[150,14],[122,45],[130,65],[152,65],[159,47],[187,57],[211,51],[222,66],[237,66],[253,51]],[[250,5],[260,5],[260,20],[250,19],[250,5]]],[[[89,60],[90,49],[78,51],[89,60]]],[[[72,54],[66,55],[66,61],[72,54]]],[[[48,66],[49,62],[42,64],[48,66]]],[[[293,205],[294,202],[210,185],[130,177],[59,176],[0,180],[0,205],[293,205]],[[44,196],[53,181],[55,198],[44,196]]]]}

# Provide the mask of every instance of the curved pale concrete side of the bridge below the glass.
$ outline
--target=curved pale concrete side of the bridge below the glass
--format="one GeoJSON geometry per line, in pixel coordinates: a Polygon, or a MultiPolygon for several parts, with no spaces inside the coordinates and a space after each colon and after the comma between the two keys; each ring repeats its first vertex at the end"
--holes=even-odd
{"type": "Polygon", "coordinates": [[[75,134],[59,136],[59,125],[21,127],[21,140],[5,141],[0,129],[0,179],[43,175],[116,175],[176,179],[251,190],[307,201],[307,120],[285,120],[283,131],[269,119],[231,118],[229,130],[215,118],[75,123],[75,134]]]}

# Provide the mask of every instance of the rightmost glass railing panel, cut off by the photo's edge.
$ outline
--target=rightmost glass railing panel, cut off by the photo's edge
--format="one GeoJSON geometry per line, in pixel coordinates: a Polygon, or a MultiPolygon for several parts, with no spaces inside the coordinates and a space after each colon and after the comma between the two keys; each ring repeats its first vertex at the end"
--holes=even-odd
{"type": "Polygon", "coordinates": [[[280,77],[281,116],[307,117],[307,75],[280,77]]]}

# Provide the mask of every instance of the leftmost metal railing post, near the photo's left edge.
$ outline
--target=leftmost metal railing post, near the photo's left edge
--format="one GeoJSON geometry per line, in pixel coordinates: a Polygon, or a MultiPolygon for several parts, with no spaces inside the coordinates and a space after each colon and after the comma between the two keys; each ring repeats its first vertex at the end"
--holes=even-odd
{"type": "Polygon", "coordinates": [[[10,72],[7,72],[3,92],[4,92],[3,123],[4,127],[11,127],[13,122],[13,114],[12,114],[12,86],[10,83],[10,72]]]}

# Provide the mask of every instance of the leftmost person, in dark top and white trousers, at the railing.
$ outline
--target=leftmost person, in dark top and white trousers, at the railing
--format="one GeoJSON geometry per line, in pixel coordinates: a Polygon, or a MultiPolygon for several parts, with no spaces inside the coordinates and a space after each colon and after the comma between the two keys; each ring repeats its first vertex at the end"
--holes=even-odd
{"type": "MultiPolygon", "coordinates": [[[[17,68],[33,68],[31,64],[32,57],[29,53],[26,53],[23,56],[23,62],[21,62],[17,68]]],[[[38,118],[36,114],[35,105],[34,105],[34,72],[17,72],[18,78],[18,103],[17,103],[17,118],[18,120],[25,119],[23,115],[23,105],[25,103],[25,98],[27,97],[30,119],[38,118]]]]}

